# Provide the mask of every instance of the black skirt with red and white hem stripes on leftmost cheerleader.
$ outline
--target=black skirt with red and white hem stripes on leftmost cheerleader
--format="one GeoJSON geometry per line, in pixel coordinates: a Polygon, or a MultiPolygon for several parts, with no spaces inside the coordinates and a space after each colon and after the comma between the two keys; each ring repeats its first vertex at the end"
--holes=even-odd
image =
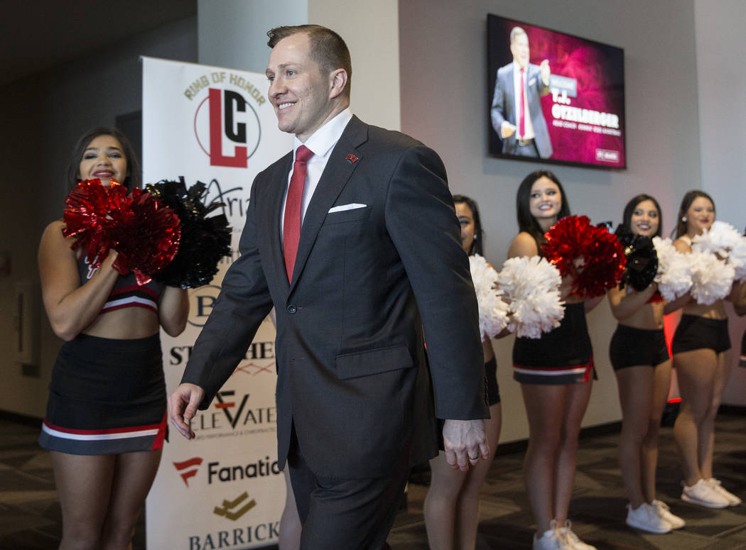
{"type": "Polygon", "coordinates": [[[73,455],[160,449],[166,437],[160,335],[78,335],[57,355],[39,444],[73,455]]]}

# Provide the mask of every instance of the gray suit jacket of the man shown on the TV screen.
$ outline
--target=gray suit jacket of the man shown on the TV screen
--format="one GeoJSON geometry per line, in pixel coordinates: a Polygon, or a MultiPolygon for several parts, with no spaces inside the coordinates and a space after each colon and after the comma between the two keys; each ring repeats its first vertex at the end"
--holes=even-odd
{"type": "MultiPolygon", "coordinates": [[[[531,116],[531,124],[533,124],[534,141],[536,142],[536,148],[539,150],[539,157],[542,157],[542,159],[551,157],[553,151],[547,121],[545,121],[544,113],[542,113],[542,102],[539,99],[542,95],[548,93],[549,86],[545,86],[542,82],[539,66],[529,63],[526,72],[528,110],[531,116]]],[[[517,142],[515,141],[517,132],[508,138],[503,138],[501,133],[503,121],[518,126],[518,110],[515,106],[515,92],[513,91],[513,63],[498,69],[490,115],[492,117],[492,127],[495,128],[495,132],[498,133],[498,137],[503,142],[503,153],[518,154],[516,152],[517,142]]]]}

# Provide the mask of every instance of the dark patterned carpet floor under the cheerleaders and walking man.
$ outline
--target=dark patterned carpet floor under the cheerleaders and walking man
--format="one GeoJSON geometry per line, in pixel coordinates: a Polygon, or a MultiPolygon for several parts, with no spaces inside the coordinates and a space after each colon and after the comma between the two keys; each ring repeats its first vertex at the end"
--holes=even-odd
{"type": "MultiPolygon", "coordinates": [[[[0,549],[52,550],[60,541],[60,505],[49,455],[37,446],[38,428],[0,417],[0,549]]],[[[583,437],[570,517],[574,531],[598,550],[746,550],[746,505],[710,510],[680,500],[680,470],[671,428],[660,438],[658,498],[686,519],[670,534],[646,534],[624,525],[627,498],[617,461],[618,433],[583,437]]],[[[515,449],[515,444],[506,450],[515,449]]],[[[483,483],[477,550],[530,549],[535,526],[521,473],[522,452],[500,452],[483,483]]],[[[746,416],[721,414],[715,439],[715,475],[746,499],[746,416]]],[[[426,550],[422,503],[427,486],[410,482],[407,508],[389,535],[393,550],[426,550]]],[[[134,550],[145,548],[137,526],[134,550]]],[[[272,547],[269,547],[272,548],[272,547]]],[[[161,550],[161,549],[148,549],[161,550]]],[[[165,550],[165,549],[164,549],[165,550]]],[[[168,549],[171,550],[171,549],[168,549]]]]}

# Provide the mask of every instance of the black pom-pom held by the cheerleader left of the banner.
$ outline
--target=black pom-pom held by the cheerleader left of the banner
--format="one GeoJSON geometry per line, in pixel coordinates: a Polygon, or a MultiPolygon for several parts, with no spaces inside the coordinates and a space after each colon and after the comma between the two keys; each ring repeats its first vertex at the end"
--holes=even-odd
{"type": "Polygon", "coordinates": [[[198,181],[186,189],[178,181],[148,183],[145,189],[174,210],[181,220],[181,244],[173,261],[154,279],[169,286],[197,288],[207,285],[218,272],[218,262],[231,253],[231,227],[224,214],[213,214],[223,203],[204,203],[207,186],[198,181]],[[208,217],[208,215],[210,215],[208,217]]]}

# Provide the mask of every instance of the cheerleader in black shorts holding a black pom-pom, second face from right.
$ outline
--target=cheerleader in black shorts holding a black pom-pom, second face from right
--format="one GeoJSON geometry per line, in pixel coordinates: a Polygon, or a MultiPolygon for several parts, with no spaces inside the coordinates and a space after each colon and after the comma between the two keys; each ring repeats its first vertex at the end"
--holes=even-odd
{"type": "MultiPolygon", "coordinates": [[[[650,195],[638,195],[624,207],[623,228],[633,235],[652,239],[660,236],[661,227],[660,206],[650,195]]],[[[621,403],[619,465],[630,497],[627,525],[668,533],[683,527],[684,521],[655,498],[658,432],[671,385],[671,358],[663,333],[666,306],[655,282],[642,291],[632,285],[612,288],[608,298],[619,322],[609,355],[621,403]]]]}

